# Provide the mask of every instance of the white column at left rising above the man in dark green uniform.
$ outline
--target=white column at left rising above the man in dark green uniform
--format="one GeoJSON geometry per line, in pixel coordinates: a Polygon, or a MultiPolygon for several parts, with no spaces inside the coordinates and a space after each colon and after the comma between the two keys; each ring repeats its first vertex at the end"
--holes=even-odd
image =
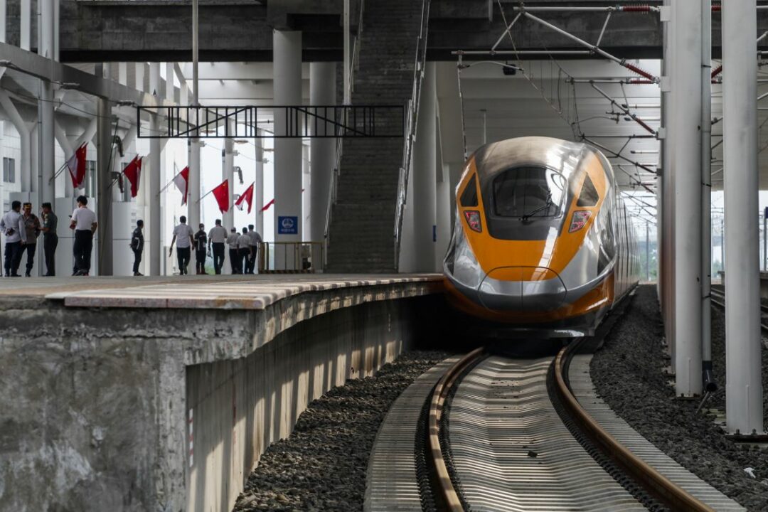
{"type": "MultiPolygon", "coordinates": [[[[38,0],[38,55],[54,58],[54,5],[53,0],[38,0]]],[[[53,174],[55,171],[55,137],[53,84],[40,81],[40,100],[38,101],[38,147],[40,203],[54,203],[56,198],[53,174]]],[[[38,205],[39,206],[39,205],[38,205]]]]}

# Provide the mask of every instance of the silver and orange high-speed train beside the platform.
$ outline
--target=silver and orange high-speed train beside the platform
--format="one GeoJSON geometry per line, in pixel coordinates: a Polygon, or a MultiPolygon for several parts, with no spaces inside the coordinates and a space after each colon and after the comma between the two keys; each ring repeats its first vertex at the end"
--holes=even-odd
{"type": "Polygon", "coordinates": [[[449,302],[512,332],[591,335],[637,283],[634,230],[604,155],[520,137],[480,147],[456,188],[449,302]]]}

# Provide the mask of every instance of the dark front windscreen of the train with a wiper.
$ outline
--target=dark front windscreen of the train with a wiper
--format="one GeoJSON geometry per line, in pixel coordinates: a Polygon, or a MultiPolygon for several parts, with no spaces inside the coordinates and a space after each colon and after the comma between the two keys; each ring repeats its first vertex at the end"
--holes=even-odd
{"type": "Polygon", "coordinates": [[[545,167],[515,167],[493,180],[493,210],[502,217],[558,217],[567,180],[545,167]]]}

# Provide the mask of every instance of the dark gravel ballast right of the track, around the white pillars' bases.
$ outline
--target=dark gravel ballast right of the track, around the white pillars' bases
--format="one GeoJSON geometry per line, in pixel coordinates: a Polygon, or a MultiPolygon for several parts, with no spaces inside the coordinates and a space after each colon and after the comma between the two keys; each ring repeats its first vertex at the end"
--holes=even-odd
{"type": "MultiPolygon", "coordinates": [[[[591,362],[598,394],[649,441],[748,510],[768,510],[768,448],[727,440],[698,401],[677,400],[661,344],[655,286],[640,286],[624,316],[591,362]],[[753,468],[755,477],[744,471],[753,468]]],[[[712,311],[713,367],[720,391],[707,408],[725,408],[725,328],[721,309],[712,311]]],[[[763,389],[768,389],[768,353],[763,349],[763,389]]],[[[764,403],[765,405],[765,403],[764,403]]],[[[764,407],[768,418],[768,407],[764,407]]]]}

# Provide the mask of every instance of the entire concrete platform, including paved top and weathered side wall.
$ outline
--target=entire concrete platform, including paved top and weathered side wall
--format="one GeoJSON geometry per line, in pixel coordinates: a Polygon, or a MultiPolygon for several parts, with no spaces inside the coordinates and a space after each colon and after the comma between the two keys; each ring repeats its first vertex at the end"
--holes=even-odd
{"type": "Polygon", "coordinates": [[[440,304],[438,274],[0,279],[4,499],[231,510],[310,401],[440,304]]]}

